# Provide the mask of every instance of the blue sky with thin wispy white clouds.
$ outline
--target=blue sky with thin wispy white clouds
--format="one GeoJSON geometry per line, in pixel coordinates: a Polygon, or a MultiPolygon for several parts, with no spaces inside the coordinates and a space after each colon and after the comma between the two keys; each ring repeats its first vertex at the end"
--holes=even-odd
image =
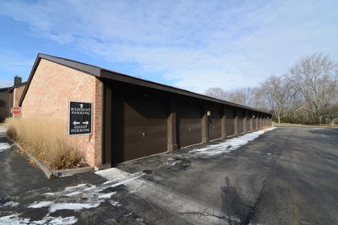
{"type": "Polygon", "coordinates": [[[256,86],[323,52],[338,62],[338,1],[1,1],[0,86],[37,53],[204,92],[256,86]]]}

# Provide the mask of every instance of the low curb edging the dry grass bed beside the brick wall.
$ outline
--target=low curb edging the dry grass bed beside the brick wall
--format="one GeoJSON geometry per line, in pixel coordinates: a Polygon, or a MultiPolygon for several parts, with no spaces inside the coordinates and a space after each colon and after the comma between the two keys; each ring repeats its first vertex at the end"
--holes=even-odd
{"type": "MultiPolygon", "coordinates": [[[[10,139],[8,136],[7,136],[7,139],[13,142],[15,146],[18,146],[18,148],[23,150],[23,147],[21,147],[18,142],[10,139]]],[[[94,171],[94,167],[83,167],[83,168],[78,168],[78,169],[61,169],[61,170],[49,169],[41,161],[37,160],[37,158],[35,158],[32,154],[28,153],[27,151],[25,151],[25,154],[28,156],[28,158],[33,160],[39,166],[39,168],[42,170],[42,172],[44,172],[44,174],[46,175],[48,179],[61,177],[61,176],[72,176],[73,174],[80,174],[84,172],[94,171]]]]}

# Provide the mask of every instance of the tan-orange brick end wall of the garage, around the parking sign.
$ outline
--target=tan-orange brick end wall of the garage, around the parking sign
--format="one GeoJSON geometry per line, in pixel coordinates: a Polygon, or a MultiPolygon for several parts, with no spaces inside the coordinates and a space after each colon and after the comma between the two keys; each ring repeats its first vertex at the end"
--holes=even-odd
{"type": "Polygon", "coordinates": [[[89,165],[101,165],[102,83],[96,77],[41,59],[22,104],[22,117],[51,117],[68,135],[68,102],[93,103],[93,134],[67,136],[89,165]]]}

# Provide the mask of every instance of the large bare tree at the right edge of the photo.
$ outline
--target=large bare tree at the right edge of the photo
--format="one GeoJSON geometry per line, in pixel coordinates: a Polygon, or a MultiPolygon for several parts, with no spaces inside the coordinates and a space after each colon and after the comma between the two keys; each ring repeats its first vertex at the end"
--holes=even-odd
{"type": "Polygon", "coordinates": [[[313,112],[313,122],[337,101],[338,79],[336,65],[329,56],[315,53],[302,58],[289,70],[289,78],[296,85],[313,112]]]}

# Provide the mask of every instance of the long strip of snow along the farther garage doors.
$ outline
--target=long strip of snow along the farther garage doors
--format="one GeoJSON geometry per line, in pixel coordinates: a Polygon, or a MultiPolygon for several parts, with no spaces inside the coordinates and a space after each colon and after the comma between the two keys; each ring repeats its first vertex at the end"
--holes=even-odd
{"type": "Polygon", "coordinates": [[[272,131],[276,127],[269,127],[264,130],[254,131],[249,134],[244,134],[243,136],[239,136],[238,138],[229,139],[222,143],[208,145],[205,148],[196,148],[194,150],[190,150],[189,154],[199,155],[204,157],[211,157],[215,155],[221,155],[223,153],[230,153],[232,150],[235,150],[241,146],[244,146],[249,141],[253,141],[258,138],[261,134],[264,134],[266,131],[272,131]]]}

